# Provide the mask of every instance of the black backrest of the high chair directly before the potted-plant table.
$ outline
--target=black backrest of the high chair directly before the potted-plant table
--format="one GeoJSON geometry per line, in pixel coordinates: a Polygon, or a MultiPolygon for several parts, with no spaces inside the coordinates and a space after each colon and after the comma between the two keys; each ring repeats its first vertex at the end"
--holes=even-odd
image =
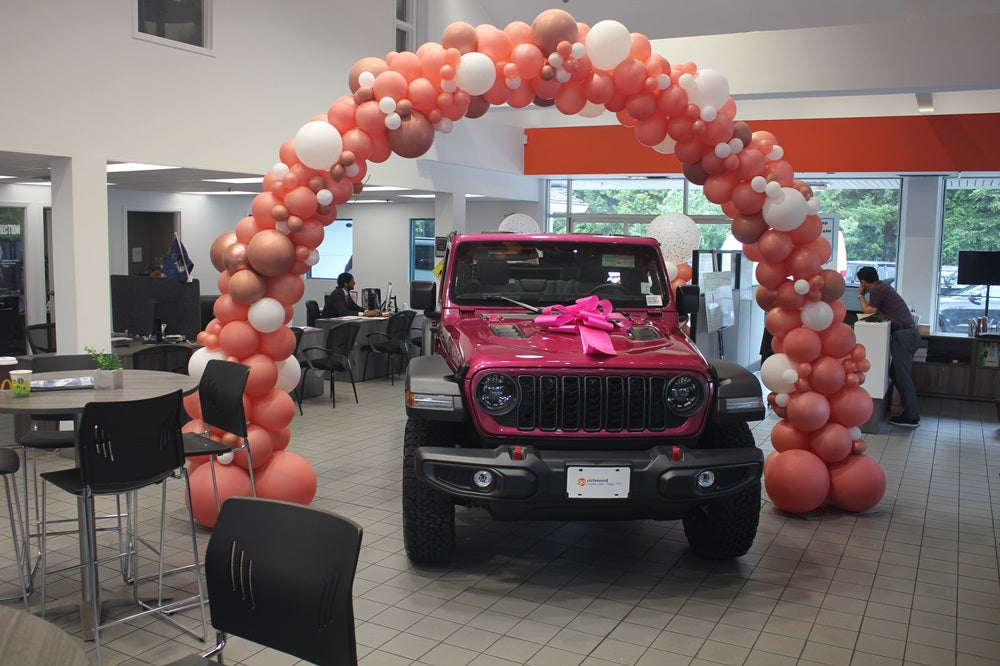
{"type": "Polygon", "coordinates": [[[181,391],[156,398],[90,402],[77,429],[83,483],[94,493],[161,481],[184,466],[181,391]]]}

